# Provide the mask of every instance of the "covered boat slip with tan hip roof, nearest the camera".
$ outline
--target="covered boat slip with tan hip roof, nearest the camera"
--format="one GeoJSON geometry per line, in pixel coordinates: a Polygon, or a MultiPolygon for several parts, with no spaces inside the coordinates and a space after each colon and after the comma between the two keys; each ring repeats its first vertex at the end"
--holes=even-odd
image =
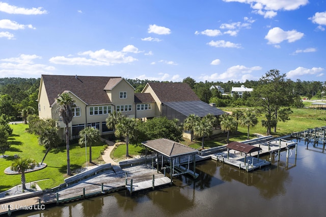
{"type": "Polygon", "coordinates": [[[182,174],[191,175],[193,178],[199,176],[196,173],[198,150],[168,139],[150,140],[142,142],[142,144],[146,147],[145,157],[147,157],[147,148],[156,152],[157,171],[159,168],[164,172],[167,168],[170,169],[171,181],[173,176],[182,174]]]}

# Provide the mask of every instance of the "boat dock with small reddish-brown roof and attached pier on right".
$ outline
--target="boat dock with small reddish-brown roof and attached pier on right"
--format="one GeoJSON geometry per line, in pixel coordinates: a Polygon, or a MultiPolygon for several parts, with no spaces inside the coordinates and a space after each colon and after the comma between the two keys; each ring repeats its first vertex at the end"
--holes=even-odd
{"type": "Polygon", "coordinates": [[[269,153],[272,155],[277,152],[278,156],[280,156],[280,151],[286,149],[288,156],[290,147],[296,147],[296,143],[281,139],[257,143],[255,145],[249,144],[231,142],[226,146],[227,151],[220,152],[217,155],[211,155],[211,157],[212,159],[225,162],[226,164],[233,165],[239,169],[253,171],[263,166],[270,165],[269,161],[259,159],[260,154],[269,153]]]}

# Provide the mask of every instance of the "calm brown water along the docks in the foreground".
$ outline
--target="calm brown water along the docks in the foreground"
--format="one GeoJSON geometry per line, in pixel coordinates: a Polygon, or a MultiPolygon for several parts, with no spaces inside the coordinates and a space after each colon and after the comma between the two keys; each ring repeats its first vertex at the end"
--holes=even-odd
{"type": "MultiPolygon", "coordinates": [[[[326,151],[300,143],[286,162],[246,173],[207,160],[200,177],[181,176],[174,186],[128,196],[125,191],[54,206],[21,216],[326,216],[326,151]]],[[[265,156],[269,158],[269,156],[265,156]]]]}

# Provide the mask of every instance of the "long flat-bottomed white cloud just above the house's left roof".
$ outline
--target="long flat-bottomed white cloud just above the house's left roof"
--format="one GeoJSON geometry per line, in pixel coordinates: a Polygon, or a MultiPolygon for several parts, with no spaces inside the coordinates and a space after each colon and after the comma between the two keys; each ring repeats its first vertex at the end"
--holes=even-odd
{"type": "Polygon", "coordinates": [[[49,59],[51,63],[63,64],[63,65],[84,65],[84,66],[110,66],[121,63],[131,63],[138,61],[137,59],[126,56],[125,52],[122,51],[109,51],[105,49],[96,51],[84,51],[79,52],[79,56],[86,57],[52,57],[49,59]]]}

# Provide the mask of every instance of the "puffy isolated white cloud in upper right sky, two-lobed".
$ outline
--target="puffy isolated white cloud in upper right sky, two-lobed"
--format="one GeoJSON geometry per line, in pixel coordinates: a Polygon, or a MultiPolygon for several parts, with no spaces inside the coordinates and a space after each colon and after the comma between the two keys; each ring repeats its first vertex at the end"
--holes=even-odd
{"type": "Polygon", "coordinates": [[[279,27],[275,27],[268,31],[265,39],[268,40],[268,44],[279,44],[284,40],[294,42],[301,39],[303,36],[303,33],[297,32],[296,30],[284,31],[279,27]]]}

